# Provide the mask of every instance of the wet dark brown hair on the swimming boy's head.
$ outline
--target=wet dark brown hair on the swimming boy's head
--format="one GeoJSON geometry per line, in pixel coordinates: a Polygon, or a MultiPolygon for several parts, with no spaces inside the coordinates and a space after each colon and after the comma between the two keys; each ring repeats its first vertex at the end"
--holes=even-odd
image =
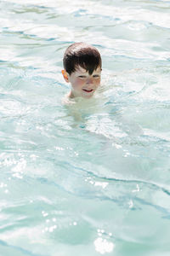
{"type": "Polygon", "coordinates": [[[69,74],[75,72],[80,66],[91,75],[94,70],[102,66],[99,50],[86,43],[71,44],[65,50],[63,66],[69,74]]]}

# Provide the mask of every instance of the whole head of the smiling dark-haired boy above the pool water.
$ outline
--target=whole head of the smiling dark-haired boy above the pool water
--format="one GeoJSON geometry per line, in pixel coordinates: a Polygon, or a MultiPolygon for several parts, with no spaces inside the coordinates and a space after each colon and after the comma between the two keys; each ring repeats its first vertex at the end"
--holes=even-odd
{"type": "Polygon", "coordinates": [[[69,98],[90,98],[100,84],[101,56],[98,49],[86,43],[71,44],[63,58],[63,77],[71,83],[69,98]]]}

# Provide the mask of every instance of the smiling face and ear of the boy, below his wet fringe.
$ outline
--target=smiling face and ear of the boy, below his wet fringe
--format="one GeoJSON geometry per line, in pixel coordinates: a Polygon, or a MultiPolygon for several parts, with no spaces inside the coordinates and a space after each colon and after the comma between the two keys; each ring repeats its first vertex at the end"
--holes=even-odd
{"type": "Polygon", "coordinates": [[[94,95],[94,91],[99,87],[101,67],[94,70],[91,75],[79,66],[71,75],[65,71],[62,73],[65,81],[71,83],[70,97],[82,96],[83,98],[89,98],[94,95]]]}

